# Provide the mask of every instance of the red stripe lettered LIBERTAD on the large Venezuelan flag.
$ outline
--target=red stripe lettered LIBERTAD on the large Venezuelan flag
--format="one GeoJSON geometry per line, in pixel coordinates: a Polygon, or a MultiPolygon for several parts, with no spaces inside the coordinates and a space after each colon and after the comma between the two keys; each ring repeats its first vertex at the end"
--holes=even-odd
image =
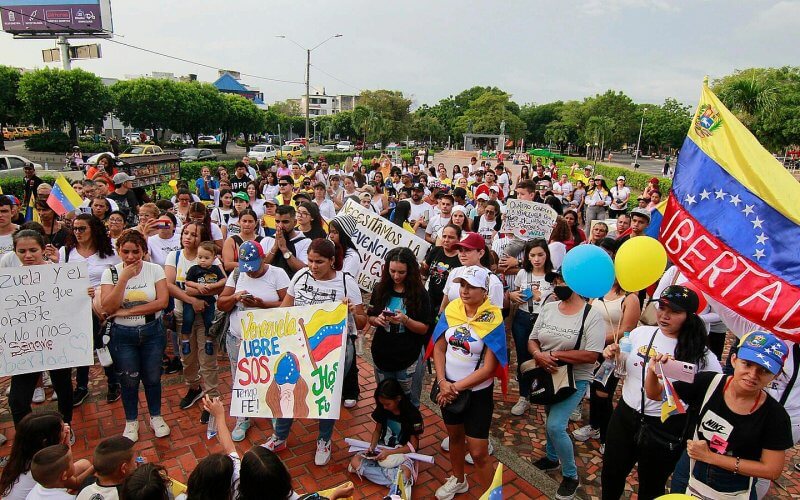
{"type": "Polygon", "coordinates": [[[800,288],[714,237],[674,194],[659,240],[670,260],[705,293],[777,336],[800,342],[800,288]]]}

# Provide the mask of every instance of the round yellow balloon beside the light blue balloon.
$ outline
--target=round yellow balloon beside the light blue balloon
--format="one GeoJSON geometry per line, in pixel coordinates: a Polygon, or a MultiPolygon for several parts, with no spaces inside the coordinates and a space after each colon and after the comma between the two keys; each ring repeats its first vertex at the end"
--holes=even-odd
{"type": "Polygon", "coordinates": [[[667,251],[649,236],[631,238],[619,247],[614,257],[614,271],[619,286],[626,292],[638,292],[655,283],[667,267],[667,251]]]}

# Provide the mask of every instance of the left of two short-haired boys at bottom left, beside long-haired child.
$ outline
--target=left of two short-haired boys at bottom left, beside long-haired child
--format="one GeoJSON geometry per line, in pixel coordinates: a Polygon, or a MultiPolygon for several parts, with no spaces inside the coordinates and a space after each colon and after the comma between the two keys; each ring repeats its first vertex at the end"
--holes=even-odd
{"type": "Polygon", "coordinates": [[[54,444],[42,448],[31,461],[31,475],[36,481],[26,500],[69,500],[75,495],[69,493],[74,484],[75,464],[72,452],[66,444],[54,444]]]}

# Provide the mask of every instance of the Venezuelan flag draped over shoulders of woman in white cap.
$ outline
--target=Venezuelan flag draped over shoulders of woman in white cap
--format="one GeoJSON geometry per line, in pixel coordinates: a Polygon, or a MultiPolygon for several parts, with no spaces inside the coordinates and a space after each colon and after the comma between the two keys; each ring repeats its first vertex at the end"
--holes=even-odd
{"type": "Polygon", "coordinates": [[[428,344],[425,357],[433,356],[433,345],[448,328],[459,325],[467,325],[471,330],[483,340],[486,347],[492,350],[497,358],[499,365],[495,376],[500,379],[503,393],[508,391],[508,349],[506,348],[506,329],[503,324],[502,311],[493,306],[489,299],[486,299],[475,316],[470,319],[464,314],[464,305],[458,298],[445,307],[444,312],[439,318],[439,323],[433,330],[433,336],[428,344]]]}

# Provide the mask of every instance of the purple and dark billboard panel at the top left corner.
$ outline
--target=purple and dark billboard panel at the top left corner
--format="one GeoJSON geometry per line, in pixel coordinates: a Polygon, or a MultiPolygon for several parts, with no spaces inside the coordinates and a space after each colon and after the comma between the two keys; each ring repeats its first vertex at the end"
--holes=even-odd
{"type": "Polygon", "coordinates": [[[110,37],[111,0],[0,0],[3,31],[20,37],[110,37]]]}

